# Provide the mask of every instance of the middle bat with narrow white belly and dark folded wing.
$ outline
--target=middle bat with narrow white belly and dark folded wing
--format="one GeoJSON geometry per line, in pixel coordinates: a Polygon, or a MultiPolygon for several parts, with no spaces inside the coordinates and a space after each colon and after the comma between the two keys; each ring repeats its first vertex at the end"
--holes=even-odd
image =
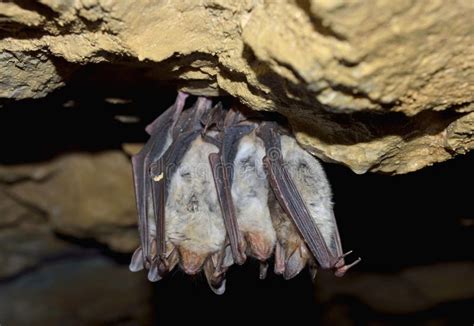
{"type": "MultiPolygon", "coordinates": [[[[246,255],[265,262],[276,238],[267,205],[268,182],[261,165],[265,149],[256,136],[256,127],[248,117],[228,111],[220,151],[209,157],[230,248],[239,265],[246,255]]],[[[262,277],[264,267],[262,264],[262,277]]]]}

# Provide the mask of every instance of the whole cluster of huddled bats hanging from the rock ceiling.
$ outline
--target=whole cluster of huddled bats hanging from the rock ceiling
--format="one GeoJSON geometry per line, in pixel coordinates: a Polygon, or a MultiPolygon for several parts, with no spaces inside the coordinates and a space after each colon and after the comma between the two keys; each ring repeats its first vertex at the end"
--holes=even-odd
{"type": "Polygon", "coordinates": [[[149,141],[132,158],[140,247],[131,271],[158,281],[176,265],[204,270],[225,291],[225,273],[248,256],[265,278],[285,279],[306,265],[342,276],[346,265],[331,189],[319,162],[276,122],[187,95],[147,126],[149,141]]]}

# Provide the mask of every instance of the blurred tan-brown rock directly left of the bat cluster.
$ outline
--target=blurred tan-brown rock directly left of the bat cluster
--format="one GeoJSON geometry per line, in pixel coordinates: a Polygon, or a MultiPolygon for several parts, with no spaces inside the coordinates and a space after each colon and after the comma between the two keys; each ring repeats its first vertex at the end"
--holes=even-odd
{"type": "MultiPolygon", "coordinates": [[[[94,238],[128,252],[138,244],[131,166],[120,151],[75,153],[48,163],[0,167],[22,176],[5,191],[34,207],[63,234],[94,238]],[[44,176],[45,166],[49,174],[44,176]],[[27,172],[29,171],[29,172],[27,172]],[[34,176],[36,178],[29,178],[34,176]]],[[[1,179],[0,179],[1,180],[1,179]]]]}

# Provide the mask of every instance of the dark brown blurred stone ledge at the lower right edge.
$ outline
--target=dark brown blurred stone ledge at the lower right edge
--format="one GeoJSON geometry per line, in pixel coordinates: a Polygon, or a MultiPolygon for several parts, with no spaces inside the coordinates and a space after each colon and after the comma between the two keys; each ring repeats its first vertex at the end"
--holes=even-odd
{"type": "Polygon", "coordinates": [[[382,313],[408,314],[474,297],[472,262],[411,267],[386,275],[352,273],[341,279],[331,276],[318,275],[316,293],[319,300],[331,300],[338,295],[352,296],[382,313]]]}

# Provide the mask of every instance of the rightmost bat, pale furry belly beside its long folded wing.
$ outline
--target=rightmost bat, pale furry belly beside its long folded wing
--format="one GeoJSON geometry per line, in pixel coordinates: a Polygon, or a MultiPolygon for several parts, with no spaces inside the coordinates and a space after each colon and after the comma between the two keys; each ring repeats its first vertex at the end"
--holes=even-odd
{"type": "MultiPolygon", "coordinates": [[[[343,276],[361,259],[350,265],[344,262],[344,257],[351,251],[342,253],[329,183],[321,166],[294,139],[279,135],[273,122],[262,123],[258,135],[265,143],[263,165],[278,203],[294,223],[319,267],[333,269],[336,276],[343,276]]],[[[294,260],[306,258],[304,250],[295,254],[287,257],[287,265],[301,265],[302,262],[294,260]]]]}

